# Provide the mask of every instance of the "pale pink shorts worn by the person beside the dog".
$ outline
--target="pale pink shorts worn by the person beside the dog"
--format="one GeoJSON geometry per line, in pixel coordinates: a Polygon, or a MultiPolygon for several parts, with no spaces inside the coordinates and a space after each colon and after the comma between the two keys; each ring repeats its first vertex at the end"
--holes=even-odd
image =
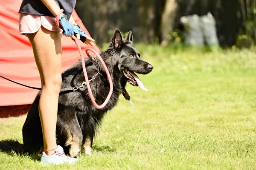
{"type": "Polygon", "coordinates": [[[35,33],[41,26],[49,31],[62,32],[55,17],[20,13],[20,34],[35,33]]]}

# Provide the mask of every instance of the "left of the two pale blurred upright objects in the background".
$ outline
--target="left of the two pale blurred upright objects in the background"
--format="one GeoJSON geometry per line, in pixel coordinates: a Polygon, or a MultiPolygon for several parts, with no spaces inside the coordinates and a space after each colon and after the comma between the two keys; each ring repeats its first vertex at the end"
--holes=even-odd
{"type": "Polygon", "coordinates": [[[185,44],[203,46],[204,35],[201,29],[200,17],[197,14],[183,16],[180,18],[180,22],[185,29],[185,44]]]}

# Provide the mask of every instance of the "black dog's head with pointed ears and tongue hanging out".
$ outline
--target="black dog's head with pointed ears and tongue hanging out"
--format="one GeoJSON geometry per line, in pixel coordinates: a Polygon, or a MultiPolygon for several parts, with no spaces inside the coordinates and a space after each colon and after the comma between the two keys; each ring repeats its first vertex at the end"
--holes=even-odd
{"type": "Polygon", "coordinates": [[[135,74],[148,74],[152,71],[153,66],[140,58],[140,53],[134,47],[132,32],[129,31],[127,37],[123,39],[121,32],[116,29],[109,49],[115,53],[114,60],[118,66],[122,79],[125,79],[131,85],[139,86],[141,89],[148,91],[135,74]]]}

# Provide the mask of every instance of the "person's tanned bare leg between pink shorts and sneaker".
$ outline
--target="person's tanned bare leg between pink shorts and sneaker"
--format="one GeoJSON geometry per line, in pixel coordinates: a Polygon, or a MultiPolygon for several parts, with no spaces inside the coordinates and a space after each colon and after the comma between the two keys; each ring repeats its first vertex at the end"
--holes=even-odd
{"type": "MultiPolygon", "coordinates": [[[[58,96],[61,88],[61,34],[41,27],[36,33],[26,34],[31,42],[35,62],[41,77],[42,91],[39,100],[44,150],[57,148],[56,122],[58,96]]],[[[45,151],[52,155],[55,150],[45,151]]]]}

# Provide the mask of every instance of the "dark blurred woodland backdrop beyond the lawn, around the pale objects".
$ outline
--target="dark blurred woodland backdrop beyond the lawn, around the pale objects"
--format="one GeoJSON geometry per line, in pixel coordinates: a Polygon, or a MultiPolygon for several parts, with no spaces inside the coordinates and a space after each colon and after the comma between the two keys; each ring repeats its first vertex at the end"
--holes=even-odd
{"type": "MultiPolygon", "coordinates": [[[[98,44],[109,42],[109,30],[119,28],[122,32],[133,31],[135,42],[160,40],[163,45],[173,30],[182,29],[180,17],[201,16],[209,11],[216,19],[220,45],[232,46],[239,31],[244,34],[246,26],[242,23],[251,16],[253,3],[254,0],[77,0],[76,11],[98,44]]],[[[253,32],[256,37],[255,28],[253,32]]]]}

